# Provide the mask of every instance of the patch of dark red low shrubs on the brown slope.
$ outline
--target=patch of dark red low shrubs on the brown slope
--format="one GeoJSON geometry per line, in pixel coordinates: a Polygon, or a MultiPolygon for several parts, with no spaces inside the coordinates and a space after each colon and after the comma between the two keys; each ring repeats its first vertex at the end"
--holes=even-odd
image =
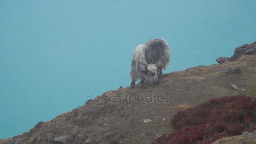
{"type": "Polygon", "coordinates": [[[210,144],[225,136],[240,135],[256,122],[256,99],[225,96],[178,112],[171,118],[175,130],[152,144],[210,144]]]}

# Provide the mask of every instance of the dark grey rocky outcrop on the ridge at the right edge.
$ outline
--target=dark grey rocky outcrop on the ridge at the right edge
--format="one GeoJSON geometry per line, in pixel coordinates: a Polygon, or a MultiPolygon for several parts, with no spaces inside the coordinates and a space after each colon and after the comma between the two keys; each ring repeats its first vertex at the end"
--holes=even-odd
{"type": "Polygon", "coordinates": [[[231,56],[230,58],[227,57],[219,57],[216,59],[216,61],[219,64],[226,63],[228,61],[235,61],[238,58],[240,58],[243,55],[250,55],[250,54],[255,54],[256,53],[256,42],[249,44],[244,44],[243,46],[235,48],[234,55],[231,56]]]}

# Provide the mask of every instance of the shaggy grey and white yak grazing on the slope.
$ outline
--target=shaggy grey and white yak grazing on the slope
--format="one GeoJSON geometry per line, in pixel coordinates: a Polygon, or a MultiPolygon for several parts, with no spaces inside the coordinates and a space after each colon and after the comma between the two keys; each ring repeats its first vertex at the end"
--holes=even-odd
{"type": "Polygon", "coordinates": [[[159,84],[158,78],[162,75],[162,69],[168,67],[170,61],[170,48],[164,38],[149,40],[147,43],[138,45],[133,52],[131,61],[131,85],[140,79],[139,87],[147,80],[150,84],[159,84]]]}

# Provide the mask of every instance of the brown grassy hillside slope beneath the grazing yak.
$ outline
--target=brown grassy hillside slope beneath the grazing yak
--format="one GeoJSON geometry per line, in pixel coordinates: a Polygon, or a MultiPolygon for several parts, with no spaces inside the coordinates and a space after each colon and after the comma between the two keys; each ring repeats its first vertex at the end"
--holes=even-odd
{"type": "MultiPolygon", "coordinates": [[[[245,45],[245,48],[248,46],[256,48],[256,42],[245,45]]],[[[254,53],[246,56],[241,54],[238,59],[224,64],[164,74],[160,77],[159,85],[145,84],[142,88],[136,86],[107,91],[82,107],[51,121],[40,122],[29,132],[0,140],[0,143],[149,143],[161,134],[171,132],[169,119],[177,112],[174,109],[176,106],[194,106],[208,99],[236,94],[256,97],[254,53]],[[240,70],[234,70],[235,67],[240,70]],[[237,89],[231,84],[235,84],[237,89]],[[147,99],[135,102],[137,93],[141,99],[147,99]],[[118,98],[119,102],[107,101],[110,96],[112,100],[118,98]],[[145,119],[151,121],[144,123],[145,119]]]]}

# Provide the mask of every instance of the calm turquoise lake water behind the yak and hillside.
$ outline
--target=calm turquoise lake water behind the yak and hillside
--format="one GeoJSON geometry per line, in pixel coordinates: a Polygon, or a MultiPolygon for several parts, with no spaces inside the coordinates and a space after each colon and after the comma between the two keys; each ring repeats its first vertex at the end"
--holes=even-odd
{"type": "Polygon", "coordinates": [[[164,37],[164,73],[256,41],[255,0],[1,0],[0,139],[130,85],[137,45],[164,37]]]}

